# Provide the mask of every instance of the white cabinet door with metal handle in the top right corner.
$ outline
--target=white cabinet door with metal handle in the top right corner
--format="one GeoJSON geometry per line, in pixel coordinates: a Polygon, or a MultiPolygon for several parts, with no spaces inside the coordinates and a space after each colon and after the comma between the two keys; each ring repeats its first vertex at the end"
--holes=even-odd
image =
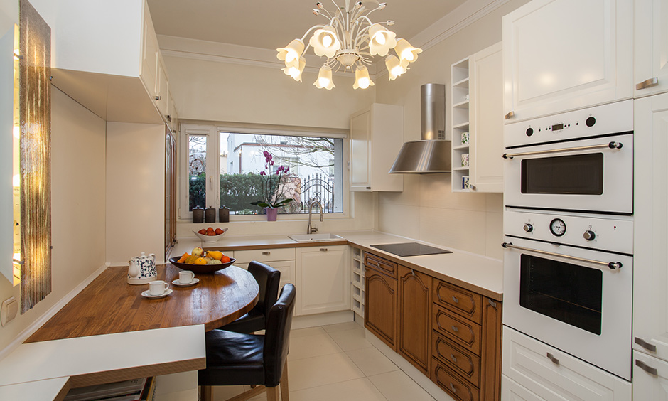
{"type": "Polygon", "coordinates": [[[668,91],[668,3],[635,0],[633,84],[635,97],[668,91]]]}

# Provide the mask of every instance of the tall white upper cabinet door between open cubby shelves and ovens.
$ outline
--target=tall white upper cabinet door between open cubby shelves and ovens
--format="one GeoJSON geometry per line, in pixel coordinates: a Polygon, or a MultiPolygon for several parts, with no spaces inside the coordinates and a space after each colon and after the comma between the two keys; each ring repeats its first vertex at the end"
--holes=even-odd
{"type": "Polygon", "coordinates": [[[469,58],[470,190],[503,192],[501,42],[469,58]]]}

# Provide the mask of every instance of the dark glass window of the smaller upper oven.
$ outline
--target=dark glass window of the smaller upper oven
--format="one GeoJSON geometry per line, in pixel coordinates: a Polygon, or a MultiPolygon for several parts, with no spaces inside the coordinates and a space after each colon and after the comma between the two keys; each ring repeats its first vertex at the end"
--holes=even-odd
{"type": "Polygon", "coordinates": [[[522,193],[603,194],[603,154],[522,160],[522,193]]]}

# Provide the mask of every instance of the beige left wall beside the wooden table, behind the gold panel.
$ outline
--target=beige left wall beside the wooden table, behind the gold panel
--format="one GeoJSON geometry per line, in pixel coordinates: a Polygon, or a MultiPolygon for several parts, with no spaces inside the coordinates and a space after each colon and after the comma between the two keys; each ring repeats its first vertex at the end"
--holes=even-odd
{"type": "MultiPolygon", "coordinates": [[[[51,87],[52,292],[0,328],[0,350],[105,261],[105,123],[51,87]]],[[[0,277],[0,300],[19,287],[0,277]]]]}

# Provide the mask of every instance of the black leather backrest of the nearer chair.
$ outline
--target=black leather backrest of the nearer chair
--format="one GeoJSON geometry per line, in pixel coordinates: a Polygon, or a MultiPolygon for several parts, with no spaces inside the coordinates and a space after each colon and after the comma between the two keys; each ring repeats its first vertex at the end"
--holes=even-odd
{"type": "Polygon", "coordinates": [[[276,387],[281,383],[281,375],[283,375],[283,367],[290,347],[295,294],[295,286],[285,284],[279,300],[269,311],[264,331],[264,385],[266,387],[276,387]]]}

